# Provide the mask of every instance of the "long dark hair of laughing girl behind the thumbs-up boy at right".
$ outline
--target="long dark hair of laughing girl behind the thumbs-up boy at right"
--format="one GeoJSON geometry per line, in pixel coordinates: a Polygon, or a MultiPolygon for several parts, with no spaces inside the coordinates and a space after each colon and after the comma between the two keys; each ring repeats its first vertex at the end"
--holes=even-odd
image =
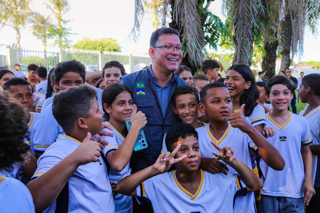
{"type": "Polygon", "coordinates": [[[228,68],[227,73],[230,69],[236,70],[242,75],[245,82],[251,81],[249,89],[244,90],[244,93],[240,97],[240,106],[245,104],[244,115],[250,116],[253,112],[254,107],[257,106],[257,99],[259,98],[259,91],[256,87],[256,80],[252,70],[244,64],[235,64],[228,68]]]}

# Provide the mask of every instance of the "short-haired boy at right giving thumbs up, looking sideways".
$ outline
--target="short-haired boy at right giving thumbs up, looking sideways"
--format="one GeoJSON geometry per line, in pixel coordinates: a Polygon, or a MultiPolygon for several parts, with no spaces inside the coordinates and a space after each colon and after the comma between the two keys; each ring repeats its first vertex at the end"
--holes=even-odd
{"type": "MultiPolygon", "coordinates": [[[[235,153],[239,153],[238,159],[251,169],[253,168],[249,150],[260,155],[274,170],[284,168],[284,160],[278,150],[247,122],[244,116],[245,106],[241,106],[240,112],[232,113],[230,93],[224,84],[215,82],[205,85],[200,91],[200,97],[202,103],[199,104],[199,110],[205,113],[209,120],[207,126],[196,129],[199,134],[202,169],[211,171],[211,141],[219,146],[231,146],[235,153]]],[[[228,169],[235,172],[233,168],[228,169]]],[[[238,177],[237,181],[241,188],[241,177],[238,177]]],[[[245,197],[238,197],[235,206],[238,206],[238,212],[255,212],[253,192],[247,193],[245,197]]]]}

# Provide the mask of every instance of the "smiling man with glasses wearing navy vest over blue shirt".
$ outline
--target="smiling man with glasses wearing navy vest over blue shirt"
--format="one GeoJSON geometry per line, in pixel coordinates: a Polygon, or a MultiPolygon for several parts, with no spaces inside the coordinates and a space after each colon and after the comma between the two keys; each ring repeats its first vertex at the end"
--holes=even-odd
{"type": "Polygon", "coordinates": [[[137,110],[147,117],[147,125],[143,130],[148,148],[132,154],[132,173],[156,162],[164,134],[170,127],[181,122],[171,107],[173,91],[187,84],[173,73],[178,69],[184,51],[179,36],[179,32],[172,28],[154,31],[149,48],[152,65],[145,70],[123,76],[119,82],[129,87],[137,110]]]}

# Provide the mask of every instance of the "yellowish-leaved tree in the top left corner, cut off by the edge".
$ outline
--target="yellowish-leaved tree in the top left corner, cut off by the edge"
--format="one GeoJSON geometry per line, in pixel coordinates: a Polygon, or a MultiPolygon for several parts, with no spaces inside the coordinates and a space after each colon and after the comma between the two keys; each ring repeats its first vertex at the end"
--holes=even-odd
{"type": "Polygon", "coordinates": [[[21,30],[30,14],[29,4],[29,0],[0,1],[0,28],[9,26],[16,31],[17,46],[20,46],[21,30]]]}

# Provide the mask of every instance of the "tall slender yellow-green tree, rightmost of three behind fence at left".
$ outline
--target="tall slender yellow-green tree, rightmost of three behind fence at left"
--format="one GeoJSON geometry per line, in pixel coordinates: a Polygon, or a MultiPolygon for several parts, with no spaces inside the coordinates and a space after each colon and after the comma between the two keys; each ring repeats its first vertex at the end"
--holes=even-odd
{"type": "Polygon", "coordinates": [[[57,21],[57,25],[52,25],[49,28],[49,33],[56,36],[55,43],[60,48],[66,48],[70,46],[69,35],[71,35],[71,29],[66,28],[65,25],[71,20],[63,19],[63,16],[70,10],[68,0],[48,0],[44,3],[47,8],[52,12],[52,15],[57,21]]]}

